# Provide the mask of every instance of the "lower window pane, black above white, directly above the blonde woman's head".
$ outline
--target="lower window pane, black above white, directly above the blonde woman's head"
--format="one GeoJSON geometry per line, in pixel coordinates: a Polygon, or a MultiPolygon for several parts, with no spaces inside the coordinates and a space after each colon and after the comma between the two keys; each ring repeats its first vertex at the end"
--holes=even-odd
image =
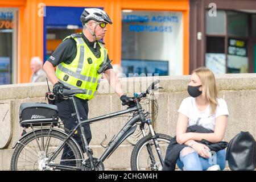
{"type": "Polygon", "coordinates": [[[225,38],[208,37],[205,66],[213,73],[226,73],[225,38]]]}

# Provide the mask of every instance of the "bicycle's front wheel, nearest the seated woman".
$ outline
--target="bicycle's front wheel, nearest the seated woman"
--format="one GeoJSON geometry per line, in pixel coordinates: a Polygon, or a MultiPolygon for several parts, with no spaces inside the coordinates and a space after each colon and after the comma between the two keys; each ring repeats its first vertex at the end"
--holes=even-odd
{"type": "MultiPolygon", "coordinates": [[[[166,155],[168,144],[172,137],[164,134],[156,134],[162,159],[166,155]]],[[[147,135],[138,141],[131,152],[131,170],[132,171],[160,171],[162,170],[159,154],[151,135],[147,135]]]]}

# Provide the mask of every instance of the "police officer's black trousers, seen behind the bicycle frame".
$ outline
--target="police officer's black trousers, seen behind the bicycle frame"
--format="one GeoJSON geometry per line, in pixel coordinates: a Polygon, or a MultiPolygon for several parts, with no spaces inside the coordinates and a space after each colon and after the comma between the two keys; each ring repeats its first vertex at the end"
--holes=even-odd
{"type": "MultiPolygon", "coordinates": [[[[77,98],[77,97],[74,97],[74,98],[76,101],[77,109],[79,110],[81,120],[88,119],[88,111],[89,111],[88,101],[82,100],[81,98],[77,98]]],[[[76,116],[72,117],[72,114],[75,113],[75,107],[73,106],[72,100],[68,99],[68,100],[56,102],[55,105],[58,107],[59,117],[61,121],[63,121],[64,127],[68,130],[72,130],[78,124],[76,116]]],[[[92,139],[90,126],[87,124],[87,125],[83,125],[82,127],[84,128],[86,139],[89,144],[90,140],[92,139]]],[[[76,139],[77,143],[82,148],[82,151],[85,152],[84,147],[82,147],[81,131],[80,129],[78,131],[79,132],[77,134],[73,134],[73,138],[76,139]]],[[[68,134],[68,131],[65,131],[65,133],[68,134]]],[[[64,159],[75,159],[73,152],[70,150],[67,144],[65,144],[63,149],[63,154],[61,156],[61,160],[64,160],[64,159]]],[[[73,166],[74,164],[76,164],[76,162],[71,160],[71,161],[61,162],[60,164],[73,166]]]]}

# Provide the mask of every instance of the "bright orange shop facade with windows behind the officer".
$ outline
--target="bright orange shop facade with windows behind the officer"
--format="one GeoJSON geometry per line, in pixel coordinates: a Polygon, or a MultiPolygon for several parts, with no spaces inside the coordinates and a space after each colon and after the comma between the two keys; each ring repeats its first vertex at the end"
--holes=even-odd
{"type": "Polygon", "coordinates": [[[81,32],[85,7],[109,14],[105,47],[127,76],[189,74],[188,0],[0,0],[0,85],[29,82],[31,57],[81,32]]]}

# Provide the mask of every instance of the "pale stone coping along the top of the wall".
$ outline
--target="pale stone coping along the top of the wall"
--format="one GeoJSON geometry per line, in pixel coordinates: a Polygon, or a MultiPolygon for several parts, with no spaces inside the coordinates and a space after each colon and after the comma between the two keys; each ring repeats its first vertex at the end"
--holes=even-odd
{"type": "MultiPolygon", "coordinates": [[[[126,93],[141,92],[147,88],[157,77],[121,78],[126,93]]],[[[159,92],[186,92],[190,76],[161,76],[159,92]]],[[[256,73],[216,75],[218,90],[255,90],[256,73]]],[[[50,88],[52,89],[52,85],[50,88]]],[[[0,100],[13,100],[17,98],[43,97],[47,92],[47,82],[27,84],[0,85],[0,100]]],[[[98,94],[114,94],[108,81],[102,80],[98,94]],[[108,92],[107,92],[108,91],[108,92]]]]}

